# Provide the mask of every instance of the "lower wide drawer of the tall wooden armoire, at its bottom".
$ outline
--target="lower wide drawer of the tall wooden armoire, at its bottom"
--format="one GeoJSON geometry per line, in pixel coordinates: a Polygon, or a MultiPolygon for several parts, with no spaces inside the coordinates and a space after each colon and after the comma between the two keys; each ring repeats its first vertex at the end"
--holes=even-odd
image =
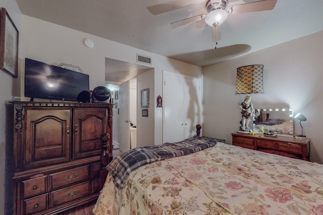
{"type": "Polygon", "coordinates": [[[52,206],[55,207],[87,195],[89,195],[89,182],[53,191],[51,192],[50,197],[52,206]]]}

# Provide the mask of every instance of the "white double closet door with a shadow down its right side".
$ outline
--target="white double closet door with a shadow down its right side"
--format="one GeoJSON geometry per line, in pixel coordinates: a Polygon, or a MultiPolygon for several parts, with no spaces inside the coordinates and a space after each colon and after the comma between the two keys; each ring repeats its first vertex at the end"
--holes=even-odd
{"type": "Polygon", "coordinates": [[[201,80],[164,71],[164,140],[175,142],[195,134],[201,123],[201,80]]]}

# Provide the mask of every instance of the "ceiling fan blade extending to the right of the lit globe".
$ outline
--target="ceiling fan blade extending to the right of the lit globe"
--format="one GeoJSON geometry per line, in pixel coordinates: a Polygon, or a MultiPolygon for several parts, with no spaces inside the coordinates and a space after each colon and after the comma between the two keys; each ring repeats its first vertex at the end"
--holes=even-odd
{"type": "Polygon", "coordinates": [[[229,14],[243,14],[256,11],[269,11],[275,8],[277,0],[262,0],[242,5],[234,5],[228,9],[229,14]]]}

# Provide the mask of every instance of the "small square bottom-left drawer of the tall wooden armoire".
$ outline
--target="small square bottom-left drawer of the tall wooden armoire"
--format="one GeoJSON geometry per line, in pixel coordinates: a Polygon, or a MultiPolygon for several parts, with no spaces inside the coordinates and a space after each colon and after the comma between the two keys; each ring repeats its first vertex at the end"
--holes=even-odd
{"type": "Polygon", "coordinates": [[[48,194],[24,200],[25,214],[36,214],[48,209],[48,194]]]}

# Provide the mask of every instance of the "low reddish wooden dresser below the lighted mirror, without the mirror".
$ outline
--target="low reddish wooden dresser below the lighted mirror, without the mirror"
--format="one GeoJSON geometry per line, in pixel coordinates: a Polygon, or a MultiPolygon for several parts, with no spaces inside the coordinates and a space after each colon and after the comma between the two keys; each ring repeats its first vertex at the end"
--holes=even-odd
{"type": "Polygon", "coordinates": [[[247,149],[309,161],[309,139],[232,133],[232,144],[247,149]]]}

